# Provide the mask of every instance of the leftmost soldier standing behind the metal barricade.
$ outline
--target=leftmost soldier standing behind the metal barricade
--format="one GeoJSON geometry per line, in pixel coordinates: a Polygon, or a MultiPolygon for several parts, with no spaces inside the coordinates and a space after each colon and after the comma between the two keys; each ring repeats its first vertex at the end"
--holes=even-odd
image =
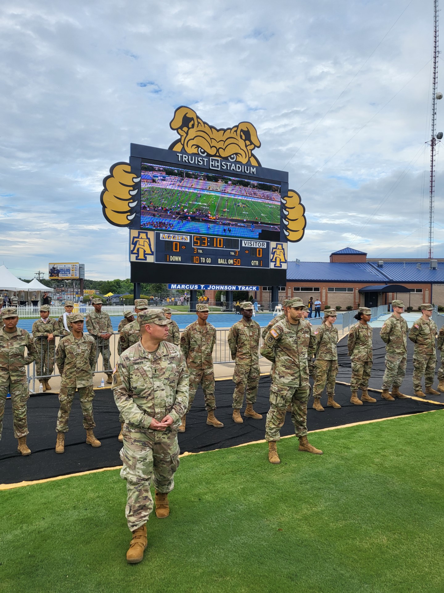
{"type": "Polygon", "coordinates": [[[59,323],[56,319],[49,318],[49,305],[40,306],[40,319],[33,323],[33,338],[36,342],[38,357],[36,361],[37,379],[40,381],[42,391],[50,390],[49,379],[54,370],[56,355],[56,340],[59,335],[59,323]]]}

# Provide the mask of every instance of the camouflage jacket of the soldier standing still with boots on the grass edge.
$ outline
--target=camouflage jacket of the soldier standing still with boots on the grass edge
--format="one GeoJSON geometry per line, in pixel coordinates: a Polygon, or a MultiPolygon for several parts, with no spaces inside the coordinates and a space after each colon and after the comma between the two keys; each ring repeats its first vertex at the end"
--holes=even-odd
{"type": "Polygon", "coordinates": [[[291,324],[283,319],[271,328],[260,353],[274,363],[270,376],[285,387],[308,385],[308,350],[313,352],[316,337],[304,320],[291,324]],[[301,323],[303,321],[303,323],[301,323]]]}

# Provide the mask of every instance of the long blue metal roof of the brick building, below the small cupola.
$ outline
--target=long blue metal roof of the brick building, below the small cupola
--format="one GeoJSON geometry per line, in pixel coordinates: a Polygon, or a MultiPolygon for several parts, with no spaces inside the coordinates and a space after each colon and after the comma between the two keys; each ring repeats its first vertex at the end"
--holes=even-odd
{"type": "MultiPolygon", "coordinates": [[[[339,253],[339,252],[337,252],[339,253]]],[[[431,270],[429,263],[388,262],[378,267],[370,262],[288,262],[287,280],[294,282],[389,282],[444,283],[444,262],[431,270]]]]}

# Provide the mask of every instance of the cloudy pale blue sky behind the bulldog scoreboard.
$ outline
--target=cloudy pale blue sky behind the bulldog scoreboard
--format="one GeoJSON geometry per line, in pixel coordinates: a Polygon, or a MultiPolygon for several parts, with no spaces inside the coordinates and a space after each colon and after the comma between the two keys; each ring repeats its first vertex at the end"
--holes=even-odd
{"type": "Polygon", "coordinates": [[[217,127],[251,121],[262,165],[289,171],[307,211],[290,259],[426,257],[432,45],[433,0],[2,3],[0,264],[129,276],[102,178],[130,142],[168,148],[180,105],[217,127]]]}

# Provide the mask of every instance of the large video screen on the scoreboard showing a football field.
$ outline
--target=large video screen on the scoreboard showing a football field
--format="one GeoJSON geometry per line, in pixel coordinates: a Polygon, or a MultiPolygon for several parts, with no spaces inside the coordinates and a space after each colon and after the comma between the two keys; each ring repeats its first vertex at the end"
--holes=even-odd
{"type": "Polygon", "coordinates": [[[141,165],[141,228],[258,238],[280,221],[280,184],[141,165]]]}

